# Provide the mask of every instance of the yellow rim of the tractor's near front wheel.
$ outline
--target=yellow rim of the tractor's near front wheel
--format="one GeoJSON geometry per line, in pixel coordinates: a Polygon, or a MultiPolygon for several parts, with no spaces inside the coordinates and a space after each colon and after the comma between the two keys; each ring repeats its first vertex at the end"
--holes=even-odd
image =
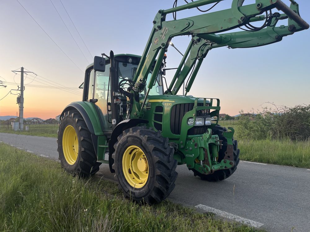
{"type": "Polygon", "coordinates": [[[148,180],[148,160],[141,148],[131,145],[124,152],[122,168],[126,181],[135,188],[143,187],[148,180]]]}

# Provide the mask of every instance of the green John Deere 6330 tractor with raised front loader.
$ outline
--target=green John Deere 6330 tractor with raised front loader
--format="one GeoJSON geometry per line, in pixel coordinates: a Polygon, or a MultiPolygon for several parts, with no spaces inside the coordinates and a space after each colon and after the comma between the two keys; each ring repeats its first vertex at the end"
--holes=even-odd
{"type": "MultiPolygon", "coordinates": [[[[231,9],[176,19],[176,12],[221,0],[197,0],[159,10],[142,56],[96,56],[86,67],[82,101],[60,116],[58,152],[62,167],[90,176],[107,163],[124,196],[153,204],[175,187],[177,165],[186,164],[207,181],[231,176],[239,163],[234,130],[218,125],[219,99],[187,96],[211,49],[250,48],[279,42],[308,29],[298,4],[280,0],[232,0],[231,9]],[[277,8],[282,13],[272,12],[277,8]],[[166,21],[167,14],[174,20],[166,21]],[[288,25],[279,21],[288,19],[288,25]],[[261,27],[253,22],[263,21],[261,27]],[[241,28],[243,31],[220,33],[241,28]],[[171,39],[188,35],[190,43],[168,86],[167,49],[171,39]],[[187,80],[187,81],[186,81],[187,80]],[[186,81],[185,94],[177,95],[186,81]]],[[[217,4],[216,3],[216,4],[217,4]]]]}

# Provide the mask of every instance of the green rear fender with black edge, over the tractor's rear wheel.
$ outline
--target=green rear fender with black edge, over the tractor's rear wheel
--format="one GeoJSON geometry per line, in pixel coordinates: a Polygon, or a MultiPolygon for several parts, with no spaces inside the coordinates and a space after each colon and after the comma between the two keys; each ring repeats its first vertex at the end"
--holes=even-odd
{"type": "Polygon", "coordinates": [[[62,111],[60,118],[64,115],[64,112],[68,110],[78,110],[78,112],[80,112],[91,134],[98,136],[104,135],[103,127],[100,122],[100,114],[94,103],[88,101],[72,102],[62,111]]]}

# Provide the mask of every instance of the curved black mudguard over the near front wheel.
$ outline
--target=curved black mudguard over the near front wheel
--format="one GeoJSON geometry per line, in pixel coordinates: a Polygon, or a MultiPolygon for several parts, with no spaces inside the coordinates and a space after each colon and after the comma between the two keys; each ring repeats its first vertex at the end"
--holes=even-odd
{"type": "Polygon", "coordinates": [[[123,131],[128,128],[137,126],[139,123],[148,123],[148,120],[141,119],[141,118],[126,119],[118,123],[117,126],[113,129],[111,138],[109,140],[109,168],[110,168],[111,173],[115,172],[115,170],[112,168],[112,165],[114,163],[112,154],[115,151],[114,144],[117,142],[118,135],[122,134],[123,131]]]}

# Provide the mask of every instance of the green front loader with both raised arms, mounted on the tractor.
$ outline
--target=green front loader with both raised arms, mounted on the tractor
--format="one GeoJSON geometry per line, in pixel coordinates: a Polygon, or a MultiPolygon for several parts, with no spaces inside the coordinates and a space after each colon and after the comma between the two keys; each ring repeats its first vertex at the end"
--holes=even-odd
{"type": "Polygon", "coordinates": [[[168,94],[176,94],[178,92],[181,84],[188,76],[190,69],[198,60],[195,70],[193,70],[193,74],[188,82],[188,88],[186,91],[189,91],[203,58],[212,48],[222,46],[242,48],[267,45],[281,41],[283,36],[309,28],[309,25],[299,16],[298,4],[293,0],[291,0],[292,4],[290,8],[283,4],[281,0],[256,0],[255,4],[246,6],[242,6],[242,0],[232,0],[231,9],[197,15],[184,19],[165,21],[166,14],[219,1],[222,0],[197,0],[183,6],[158,11],[153,21],[154,27],[133,79],[135,82],[133,89],[136,95],[143,91],[149,71],[157,55],[159,55],[157,57],[153,73],[147,86],[148,91],[146,93],[144,102],[140,110],[137,109],[140,112],[136,111],[135,114],[132,115],[133,117],[139,117],[140,113],[142,112],[148,93],[153,87],[157,78],[157,74],[161,68],[164,53],[173,37],[181,35],[192,35],[193,41],[191,41],[189,44],[185,56],[179,65],[172,83],[170,84],[167,92],[168,94]],[[279,16],[279,19],[272,19],[272,24],[277,24],[278,20],[288,17],[289,26],[281,26],[276,28],[275,25],[273,25],[256,32],[216,34],[244,26],[253,21],[264,20],[264,16],[261,14],[273,8],[282,10],[285,14],[282,14],[281,17],[279,16]],[[200,46],[198,44],[200,44],[200,46]],[[201,47],[202,44],[204,44],[203,48],[201,47]],[[196,55],[195,57],[195,53],[198,56],[196,55]],[[185,62],[186,57],[188,57],[188,59],[185,62]],[[184,67],[182,68],[183,65],[184,67]],[[172,88],[175,81],[176,84],[172,88]]]}

